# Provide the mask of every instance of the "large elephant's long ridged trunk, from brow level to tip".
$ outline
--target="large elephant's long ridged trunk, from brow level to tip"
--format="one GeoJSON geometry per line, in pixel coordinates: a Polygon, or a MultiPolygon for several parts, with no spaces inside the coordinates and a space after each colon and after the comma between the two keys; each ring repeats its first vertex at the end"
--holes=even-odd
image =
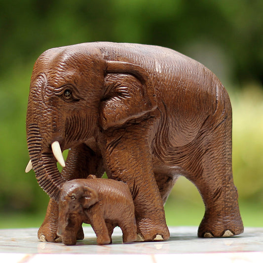
{"type": "MultiPolygon", "coordinates": [[[[44,94],[47,94],[48,98],[52,95],[47,92],[46,75],[40,74],[32,78],[30,88],[26,120],[27,144],[32,168],[36,173],[39,186],[58,202],[60,188],[66,180],[58,171],[57,160],[50,147],[50,143],[55,141],[50,137],[50,134],[53,138],[58,138],[54,133],[56,120],[52,119],[55,109],[47,104],[47,97],[44,94]]],[[[29,168],[31,167],[27,167],[27,171],[29,168]]]]}

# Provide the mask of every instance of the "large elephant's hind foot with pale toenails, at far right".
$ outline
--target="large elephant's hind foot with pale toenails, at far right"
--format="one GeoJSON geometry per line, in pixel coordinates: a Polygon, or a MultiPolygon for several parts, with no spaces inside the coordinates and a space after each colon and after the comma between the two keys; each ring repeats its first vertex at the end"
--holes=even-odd
{"type": "Polygon", "coordinates": [[[243,233],[244,227],[240,216],[214,219],[204,216],[198,228],[198,237],[230,237],[243,233]],[[231,218],[231,219],[230,219],[231,218]]]}

